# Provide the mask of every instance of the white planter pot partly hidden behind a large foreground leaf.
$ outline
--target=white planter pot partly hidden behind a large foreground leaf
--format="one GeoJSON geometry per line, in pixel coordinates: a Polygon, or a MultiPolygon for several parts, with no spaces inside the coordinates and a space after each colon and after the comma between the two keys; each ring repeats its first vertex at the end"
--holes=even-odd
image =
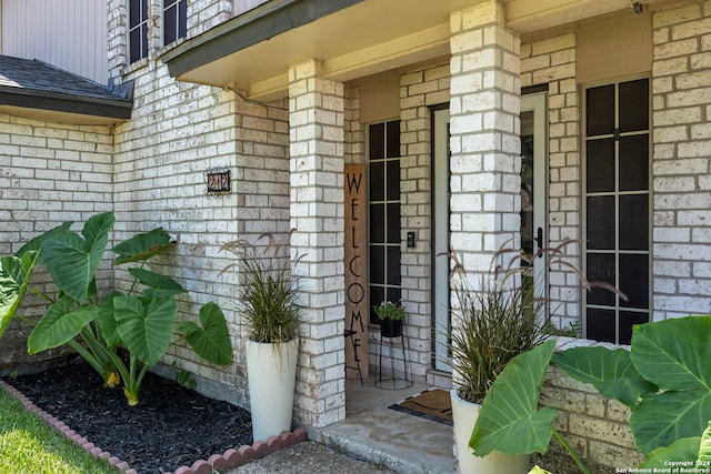
{"type": "Polygon", "coordinates": [[[457,444],[457,460],[461,474],[525,474],[529,472],[528,454],[507,456],[492,452],[484,457],[474,455],[469,447],[471,432],[477,424],[481,405],[470,403],[459,397],[457,389],[452,389],[452,418],[454,420],[454,443],[457,444]]]}

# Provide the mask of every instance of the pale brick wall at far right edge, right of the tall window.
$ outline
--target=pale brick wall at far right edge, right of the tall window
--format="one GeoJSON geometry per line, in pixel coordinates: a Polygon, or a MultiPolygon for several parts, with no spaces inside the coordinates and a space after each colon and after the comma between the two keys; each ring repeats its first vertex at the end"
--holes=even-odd
{"type": "Polygon", "coordinates": [[[653,320],[711,313],[711,1],[653,19],[653,320]]]}

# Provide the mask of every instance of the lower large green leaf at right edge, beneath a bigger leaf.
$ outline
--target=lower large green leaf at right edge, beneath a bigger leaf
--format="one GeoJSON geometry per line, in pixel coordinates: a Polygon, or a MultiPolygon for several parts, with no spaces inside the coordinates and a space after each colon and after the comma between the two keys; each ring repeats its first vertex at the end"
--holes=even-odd
{"type": "Polygon", "coordinates": [[[632,411],[630,426],[637,448],[650,454],[682,437],[698,436],[711,420],[711,392],[667,391],[645,395],[632,411]]]}

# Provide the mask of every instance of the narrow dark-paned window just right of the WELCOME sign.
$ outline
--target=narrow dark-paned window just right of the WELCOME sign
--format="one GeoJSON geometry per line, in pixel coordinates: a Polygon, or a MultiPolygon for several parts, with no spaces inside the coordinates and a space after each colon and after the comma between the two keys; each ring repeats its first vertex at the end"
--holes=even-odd
{"type": "Polygon", "coordinates": [[[369,296],[372,310],[381,301],[402,297],[400,274],[400,121],[368,128],[369,296]]]}

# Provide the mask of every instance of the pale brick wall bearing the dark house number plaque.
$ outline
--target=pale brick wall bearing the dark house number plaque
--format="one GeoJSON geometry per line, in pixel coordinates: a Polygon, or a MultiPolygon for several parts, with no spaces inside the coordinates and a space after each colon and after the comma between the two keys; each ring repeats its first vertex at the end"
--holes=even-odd
{"type": "MultiPolygon", "coordinates": [[[[189,2],[188,34],[224,21],[231,6],[189,2]]],[[[267,244],[266,239],[258,242],[263,233],[288,242],[287,103],[256,103],[228,89],[178,82],[158,57],[164,48],[137,63],[120,64],[126,49],[122,21],[111,23],[109,36],[117,41],[110,57],[117,58],[121,81],[134,80],[136,89],[132,118],[114,131],[117,238],[160,225],[178,241],[154,265],[189,291],[180,299],[179,319],[194,317],[202,304],[216,301],[228,319],[236,359],[232,366],[218,367],[177,345],[163,362],[196,374],[199,391],[247,406],[240,274],[238,266],[222,273],[236,256],[220,246],[238,239],[267,244]],[[206,172],[214,168],[231,171],[231,194],[207,195],[206,172]]],[[[158,37],[159,26],[150,34],[158,37]]],[[[123,276],[118,274],[119,285],[127,284],[123,276]]],[[[172,375],[171,370],[162,372],[172,375]]]]}

